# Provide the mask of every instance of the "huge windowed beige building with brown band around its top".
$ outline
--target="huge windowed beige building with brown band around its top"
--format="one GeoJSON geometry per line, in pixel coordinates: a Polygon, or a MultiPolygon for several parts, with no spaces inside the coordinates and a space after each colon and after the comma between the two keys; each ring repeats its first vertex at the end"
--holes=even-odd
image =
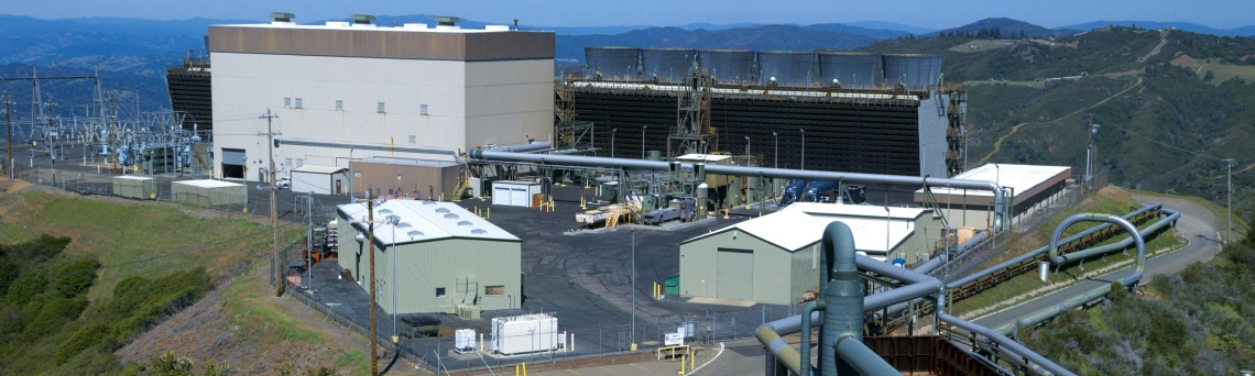
{"type": "Polygon", "coordinates": [[[553,33],[326,23],[210,26],[215,178],[550,137],[553,33]]]}

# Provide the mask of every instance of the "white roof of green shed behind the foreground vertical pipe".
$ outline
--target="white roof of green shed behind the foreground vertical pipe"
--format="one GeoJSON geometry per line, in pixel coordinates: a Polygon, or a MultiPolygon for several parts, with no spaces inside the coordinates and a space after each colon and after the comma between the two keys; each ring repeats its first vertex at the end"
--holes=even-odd
{"type": "Polygon", "coordinates": [[[781,248],[797,251],[823,238],[823,228],[828,223],[841,221],[850,226],[855,236],[855,248],[862,252],[885,253],[886,227],[890,247],[897,247],[915,233],[915,219],[926,212],[922,208],[891,207],[886,226],[885,207],[794,203],[779,212],[724,227],[685,242],[727,231],[743,231],[781,248]]]}

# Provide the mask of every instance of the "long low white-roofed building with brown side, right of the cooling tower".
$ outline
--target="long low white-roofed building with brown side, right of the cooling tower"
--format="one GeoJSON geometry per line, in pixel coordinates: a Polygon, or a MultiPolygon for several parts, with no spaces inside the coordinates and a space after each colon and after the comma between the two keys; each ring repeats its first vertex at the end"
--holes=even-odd
{"type": "MultiPolygon", "coordinates": [[[[1012,206],[1008,209],[1010,223],[1014,226],[1025,216],[1033,216],[1037,209],[1059,199],[1071,175],[1071,167],[990,163],[955,178],[994,182],[1008,189],[1010,193],[1008,197],[1012,197],[1012,206]]],[[[951,227],[984,229],[993,221],[993,192],[944,187],[930,191],[931,201],[945,214],[951,227]]],[[[925,201],[924,189],[916,191],[915,202],[925,206],[925,201]]]]}

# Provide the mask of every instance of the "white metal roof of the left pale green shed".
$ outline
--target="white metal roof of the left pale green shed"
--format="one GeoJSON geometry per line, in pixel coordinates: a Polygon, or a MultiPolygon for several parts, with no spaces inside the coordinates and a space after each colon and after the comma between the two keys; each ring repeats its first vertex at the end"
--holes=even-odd
{"type": "MultiPolygon", "coordinates": [[[[366,221],[366,204],[364,203],[343,204],[339,206],[339,209],[353,221],[366,221]]],[[[501,227],[449,202],[389,199],[375,204],[375,239],[384,244],[454,237],[518,241],[517,237],[501,227]],[[399,219],[395,227],[383,223],[392,216],[399,219]],[[394,233],[395,238],[393,238],[394,233]]],[[[358,227],[364,228],[361,224],[358,227]]]]}

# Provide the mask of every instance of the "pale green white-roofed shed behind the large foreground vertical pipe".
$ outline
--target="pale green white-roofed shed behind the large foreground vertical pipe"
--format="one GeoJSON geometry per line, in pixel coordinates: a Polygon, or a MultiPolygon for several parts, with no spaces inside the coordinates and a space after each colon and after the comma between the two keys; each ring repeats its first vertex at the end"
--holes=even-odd
{"type": "Polygon", "coordinates": [[[820,278],[823,228],[841,221],[868,257],[914,263],[941,222],[922,208],[794,203],[680,243],[680,296],[789,305],[820,278]],[[886,252],[889,249],[889,252],[886,252]]]}

